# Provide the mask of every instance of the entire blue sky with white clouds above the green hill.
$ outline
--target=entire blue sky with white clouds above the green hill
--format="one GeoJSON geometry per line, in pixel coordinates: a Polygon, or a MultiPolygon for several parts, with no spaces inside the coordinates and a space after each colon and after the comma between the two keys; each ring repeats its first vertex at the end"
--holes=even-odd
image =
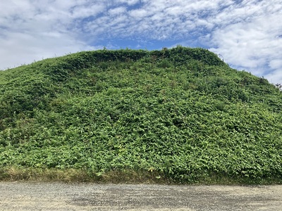
{"type": "Polygon", "coordinates": [[[282,0],[0,1],[0,70],[104,46],[178,44],[282,84],[282,0]]]}

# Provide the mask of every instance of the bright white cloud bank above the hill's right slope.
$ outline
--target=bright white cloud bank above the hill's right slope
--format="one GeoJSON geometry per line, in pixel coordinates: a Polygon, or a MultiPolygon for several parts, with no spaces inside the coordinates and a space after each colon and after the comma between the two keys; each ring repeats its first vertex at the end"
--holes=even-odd
{"type": "Polygon", "coordinates": [[[282,63],[278,62],[278,52],[282,52],[282,24],[278,21],[282,20],[281,3],[243,1],[232,10],[226,8],[217,16],[219,27],[212,32],[209,42],[214,48],[210,50],[221,53],[235,68],[264,76],[271,82],[282,81],[282,63]]]}

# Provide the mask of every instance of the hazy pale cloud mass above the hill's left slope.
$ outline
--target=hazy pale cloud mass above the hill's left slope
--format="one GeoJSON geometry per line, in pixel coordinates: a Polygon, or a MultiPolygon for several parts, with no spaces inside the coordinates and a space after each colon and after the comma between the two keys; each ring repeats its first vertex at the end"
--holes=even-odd
{"type": "Polygon", "coordinates": [[[75,1],[64,3],[24,0],[0,3],[0,69],[90,49],[68,29],[72,15],[68,10],[75,6],[75,1]]]}

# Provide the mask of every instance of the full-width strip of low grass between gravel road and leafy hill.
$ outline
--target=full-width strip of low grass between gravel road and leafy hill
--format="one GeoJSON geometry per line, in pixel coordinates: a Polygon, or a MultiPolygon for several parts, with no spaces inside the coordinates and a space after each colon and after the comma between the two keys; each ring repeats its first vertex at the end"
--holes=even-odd
{"type": "Polygon", "coordinates": [[[247,179],[242,177],[225,177],[212,174],[193,180],[176,180],[166,177],[164,173],[140,170],[113,170],[111,172],[94,173],[87,170],[58,170],[38,168],[9,167],[0,170],[1,181],[32,181],[32,182],[88,182],[99,184],[194,184],[194,185],[271,185],[282,184],[281,178],[247,179]]]}

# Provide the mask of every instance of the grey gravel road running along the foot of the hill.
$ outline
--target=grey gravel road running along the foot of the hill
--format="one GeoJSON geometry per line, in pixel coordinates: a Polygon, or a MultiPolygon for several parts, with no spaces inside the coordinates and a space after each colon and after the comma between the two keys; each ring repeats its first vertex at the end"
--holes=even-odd
{"type": "Polygon", "coordinates": [[[0,210],[282,210],[282,186],[0,182],[0,210]]]}

